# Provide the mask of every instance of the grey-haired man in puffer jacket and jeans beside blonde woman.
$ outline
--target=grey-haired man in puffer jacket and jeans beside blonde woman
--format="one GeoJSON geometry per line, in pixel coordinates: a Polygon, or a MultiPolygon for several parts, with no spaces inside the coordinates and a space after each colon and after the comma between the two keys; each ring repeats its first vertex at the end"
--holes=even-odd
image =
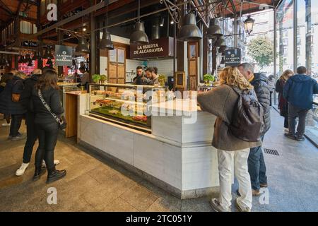
{"type": "MultiPolygon", "coordinates": [[[[264,108],[264,131],[261,136],[261,141],[264,140],[264,135],[271,127],[271,111],[270,111],[270,91],[267,85],[267,78],[261,73],[254,73],[254,66],[249,63],[240,64],[238,66],[240,72],[254,86],[255,93],[259,103],[264,108]]],[[[264,161],[263,151],[261,146],[251,148],[248,158],[249,176],[251,177],[252,194],[259,196],[259,189],[267,187],[266,165],[264,161]]]]}

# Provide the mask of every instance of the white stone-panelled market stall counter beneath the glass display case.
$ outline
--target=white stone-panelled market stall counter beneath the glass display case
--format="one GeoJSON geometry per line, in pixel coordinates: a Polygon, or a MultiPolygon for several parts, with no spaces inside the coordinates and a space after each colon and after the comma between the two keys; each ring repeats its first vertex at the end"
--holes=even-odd
{"type": "Polygon", "coordinates": [[[151,133],[90,115],[90,94],[78,99],[78,143],[112,159],[179,198],[206,196],[218,188],[216,117],[196,100],[151,105],[151,133]]]}

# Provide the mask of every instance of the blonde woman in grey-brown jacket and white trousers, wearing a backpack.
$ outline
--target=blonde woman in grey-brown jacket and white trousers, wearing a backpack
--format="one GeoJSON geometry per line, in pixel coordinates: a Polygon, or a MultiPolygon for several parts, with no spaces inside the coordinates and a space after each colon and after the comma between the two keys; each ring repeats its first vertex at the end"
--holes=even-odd
{"type": "Polygon", "coordinates": [[[237,68],[226,67],[220,73],[220,86],[206,93],[198,95],[201,109],[216,115],[216,124],[212,145],[218,150],[218,170],[220,179],[220,196],[212,198],[211,206],[219,212],[230,212],[232,194],[232,174],[239,182],[241,196],[236,200],[236,206],[240,211],[249,212],[252,209],[252,186],[247,168],[249,148],[261,145],[261,141],[248,142],[232,135],[230,124],[233,111],[240,95],[239,90],[251,90],[253,86],[245,79],[237,68]],[[234,160],[234,170],[232,169],[234,160]]]}

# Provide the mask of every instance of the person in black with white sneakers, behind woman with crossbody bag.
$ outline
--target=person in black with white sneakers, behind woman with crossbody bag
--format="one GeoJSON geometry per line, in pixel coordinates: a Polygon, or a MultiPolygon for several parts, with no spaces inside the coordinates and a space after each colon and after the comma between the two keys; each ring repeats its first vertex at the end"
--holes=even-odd
{"type": "MultiPolygon", "coordinates": [[[[30,78],[25,79],[24,90],[20,96],[20,102],[27,112],[25,113],[25,124],[27,130],[27,140],[25,142],[23,150],[23,162],[21,166],[16,170],[16,176],[22,176],[25,169],[30,165],[30,160],[33,152],[33,146],[37,141],[37,133],[35,131],[35,113],[33,112],[33,106],[31,105],[31,95],[33,88],[42,74],[41,69],[35,69],[30,78]]],[[[58,165],[59,160],[54,160],[54,165],[58,165]]],[[[42,162],[42,167],[45,167],[45,161],[42,162]]]]}

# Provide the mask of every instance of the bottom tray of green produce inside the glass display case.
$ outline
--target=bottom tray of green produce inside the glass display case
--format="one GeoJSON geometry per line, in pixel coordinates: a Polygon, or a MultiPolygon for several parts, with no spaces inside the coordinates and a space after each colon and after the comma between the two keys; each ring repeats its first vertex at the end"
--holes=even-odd
{"type": "Polygon", "coordinates": [[[151,133],[151,117],[147,117],[147,121],[136,121],[132,116],[124,116],[120,110],[116,114],[113,114],[111,113],[113,110],[114,108],[107,106],[90,109],[90,116],[128,126],[131,129],[151,133]]]}

